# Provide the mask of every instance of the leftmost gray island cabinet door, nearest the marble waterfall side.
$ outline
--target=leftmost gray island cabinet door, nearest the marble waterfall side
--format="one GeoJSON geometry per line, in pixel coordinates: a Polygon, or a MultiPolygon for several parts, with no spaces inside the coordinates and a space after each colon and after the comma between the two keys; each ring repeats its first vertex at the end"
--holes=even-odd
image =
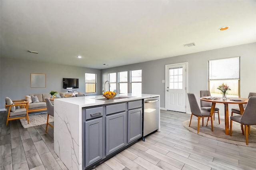
{"type": "Polygon", "coordinates": [[[85,122],[85,166],[102,159],[102,117],[85,122]]]}

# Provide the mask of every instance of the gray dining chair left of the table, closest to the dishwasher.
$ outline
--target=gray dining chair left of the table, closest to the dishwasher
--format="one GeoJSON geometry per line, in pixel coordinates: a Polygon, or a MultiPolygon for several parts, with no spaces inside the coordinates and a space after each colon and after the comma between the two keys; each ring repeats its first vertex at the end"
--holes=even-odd
{"type": "MultiPolygon", "coordinates": [[[[212,123],[212,115],[210,114],[210,111],[203,110],[203,109],[199,108],[198,103],[196,101],[196,96],[194,94],[188,93],[188,101],[189,101],[190,110],[191,110],[189,127],[191,124],[192,116],[193,115],[196,116],[198,118],[197,133],[199,133],[200,118],[202,117],[202,126],[204,126],[204,117],[211,118],[211,123],[212,123]]],[[[212,131],[213,131],[213,125],[212,125],[212,131]]]]}

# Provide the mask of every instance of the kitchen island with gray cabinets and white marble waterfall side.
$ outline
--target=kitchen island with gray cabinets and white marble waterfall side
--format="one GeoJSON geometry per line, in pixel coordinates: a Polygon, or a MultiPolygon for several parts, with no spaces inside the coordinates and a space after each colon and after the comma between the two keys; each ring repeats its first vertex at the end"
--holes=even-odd
{"type": "MultiPolygon", "coordinates": [[[[104,162],[142,138],[143,100],[154,97],[159,95],[55,99],[54,151],[69,170],[104,162]]],[[[156,121],[160,131],[160,119],[156,121]]]]}

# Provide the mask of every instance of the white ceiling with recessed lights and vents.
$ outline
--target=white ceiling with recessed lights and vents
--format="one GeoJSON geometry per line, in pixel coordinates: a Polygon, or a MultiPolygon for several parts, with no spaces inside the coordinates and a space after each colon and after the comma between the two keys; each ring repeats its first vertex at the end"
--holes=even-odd
{"type": "Polygon", "coordinates": [[[1,0],[0,38],[1,57],[110,68],[254,43],[256,0],[1,0]]]}

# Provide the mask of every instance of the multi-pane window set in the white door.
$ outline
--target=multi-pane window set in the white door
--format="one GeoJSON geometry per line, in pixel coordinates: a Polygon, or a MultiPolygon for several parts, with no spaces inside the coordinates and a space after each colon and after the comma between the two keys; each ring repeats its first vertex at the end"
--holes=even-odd
{"type": "Polygon", "coordinates": [[[182,67],[169,69],[169,89],[183,89],[183,72],[182,67]]]}

